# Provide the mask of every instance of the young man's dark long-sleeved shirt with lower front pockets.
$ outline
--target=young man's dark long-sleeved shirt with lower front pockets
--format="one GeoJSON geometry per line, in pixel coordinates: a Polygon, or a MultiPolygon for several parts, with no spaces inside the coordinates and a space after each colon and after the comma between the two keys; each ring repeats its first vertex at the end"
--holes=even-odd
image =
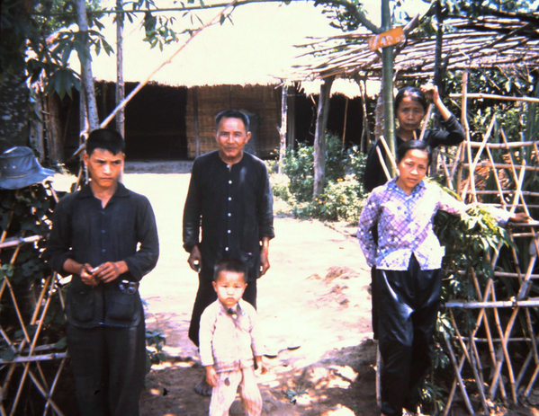
{"type": "Polygon", "coordinates": [[[67,319],[82,327],[134,326],[143,319],[139,293],[124,294],[121,280],[139,281],[157,264],[159,243],[148,199],[118,183],[105,208],[89,185],[61,199],[54,210],[45,259],[60,274],[68,258],[97,267],[125,261],[127,273],[96,287],[73,275],[67,289],[67,319]],[[139,245],[140,244],[140,245],[139,245]]]}

